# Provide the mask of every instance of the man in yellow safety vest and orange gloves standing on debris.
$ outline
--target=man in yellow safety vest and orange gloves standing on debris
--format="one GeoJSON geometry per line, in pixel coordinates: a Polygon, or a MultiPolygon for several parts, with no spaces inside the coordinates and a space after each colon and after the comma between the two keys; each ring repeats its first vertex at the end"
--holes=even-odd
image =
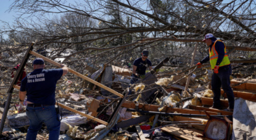
{"type": "Polygon", "coordinates": [[[220,87],[228,97],[228,108],[226,111],[233,111],[234,109],[234,93],[230,87],[230,75],[232,68],[228,59],[225,44],[217,40],[213,34],[206,34],[203,42],[209,46],[209,55],[201,60],[198,65],[210,61],[213,70],[212,75],[212,91],[213,91],[213,106],[211,108],[221,109],[220,105],[220,87]]]}

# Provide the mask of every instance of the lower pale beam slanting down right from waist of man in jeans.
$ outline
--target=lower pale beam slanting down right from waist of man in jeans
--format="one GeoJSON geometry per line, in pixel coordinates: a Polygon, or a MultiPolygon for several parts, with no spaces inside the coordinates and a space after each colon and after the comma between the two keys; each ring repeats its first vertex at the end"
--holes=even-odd
{"type": "MultiPolygon", "coordinates": [[[[20,86],[17,86],[17,85],[14,85],[14,88],[20,90],[21,87],[20,87],[20,86]]],[[[57,103],[56,103],[56,105],[57,105],[57,103]]],[[[71,111],[71,112],[78,113],[78,114],[80,114],[80,115],[82,115],[82,116],[85,116],[85,117],[87,117],[87,118],[89,118],[89,119],[93,119],[93,120],[95,120],[95,121],[97,121],[97,122],[99,122],[99,123],[101,123],[101,124],[103,124],[103,125],[106,125],[106,126],[108,125],[108,123],[107,123],[106,121],[103,121],[103,120],[101,120],[101,119],[97,119],[97,118],[95,118],[95,117],[93,117],[93,116],[90,116],[90,115],[87,115],[87,114],[85,114],[85,113],[83,113],[83,112],[79,112],[79,111],[77,111],[77,110],[75,110],[75,109],[73,109],[73,108],[71,108],[71,107],[66,106],[66,105],[63,105],[63,104],[60,104],[60,103],[58,103],[58,105],[59,105],[60,107],[64,108],[64,109],[66,109],[66,110],[69,110],[69,111],[71,111]]]]}

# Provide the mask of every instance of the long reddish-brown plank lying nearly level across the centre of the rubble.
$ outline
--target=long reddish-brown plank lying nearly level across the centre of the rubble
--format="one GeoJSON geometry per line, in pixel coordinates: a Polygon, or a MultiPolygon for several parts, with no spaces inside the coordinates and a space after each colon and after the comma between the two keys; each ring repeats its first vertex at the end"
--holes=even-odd
{"type": "MultiPolygon", "coordinates": [[[[135,109],[135,103],[134,102],[129,102],[126,101],[122,105],[123,107],[126,108],[132,108],[135,109]]],[[[153,111],[153,112],[158,112],[158,108],[160,105],[150,105],[150,104],[139,104],[139,109],[144,110],[144,111],[153,111]]],[[[171,108],[171,107],[164,107],[164,111],[166,113],[173,113],[173,112],[178,112],[178,113],[184,113],[184,114],[200,114],[200,115],[205,115],[204,111],[198,111],[198,110],[191,110],[191,109],[181,109],[181,108],[171,108]]],[[[216,112],[208,112],[211,115],[217,115],[218,113],[216,112]]]]}

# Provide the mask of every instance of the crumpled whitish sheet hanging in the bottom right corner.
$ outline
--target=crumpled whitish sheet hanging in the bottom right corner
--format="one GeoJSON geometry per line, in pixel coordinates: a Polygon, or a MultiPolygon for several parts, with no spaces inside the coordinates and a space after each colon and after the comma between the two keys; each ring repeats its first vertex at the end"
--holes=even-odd
{"type": "Polygon", "coordinates": [[[256,140],[256,102],[235,99],[233,140],[256,140]]]}

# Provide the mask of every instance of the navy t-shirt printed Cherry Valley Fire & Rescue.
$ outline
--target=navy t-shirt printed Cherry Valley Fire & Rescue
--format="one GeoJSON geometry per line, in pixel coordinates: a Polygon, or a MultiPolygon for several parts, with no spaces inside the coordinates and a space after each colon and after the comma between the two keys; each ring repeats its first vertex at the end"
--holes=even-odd
{"type": "Polygon", "coordinates": [[[27,91],[27,101],[34,104],[55,105],[57,81],[63,69],[36,69],[21,81],[20,91],[27,91]]]}

